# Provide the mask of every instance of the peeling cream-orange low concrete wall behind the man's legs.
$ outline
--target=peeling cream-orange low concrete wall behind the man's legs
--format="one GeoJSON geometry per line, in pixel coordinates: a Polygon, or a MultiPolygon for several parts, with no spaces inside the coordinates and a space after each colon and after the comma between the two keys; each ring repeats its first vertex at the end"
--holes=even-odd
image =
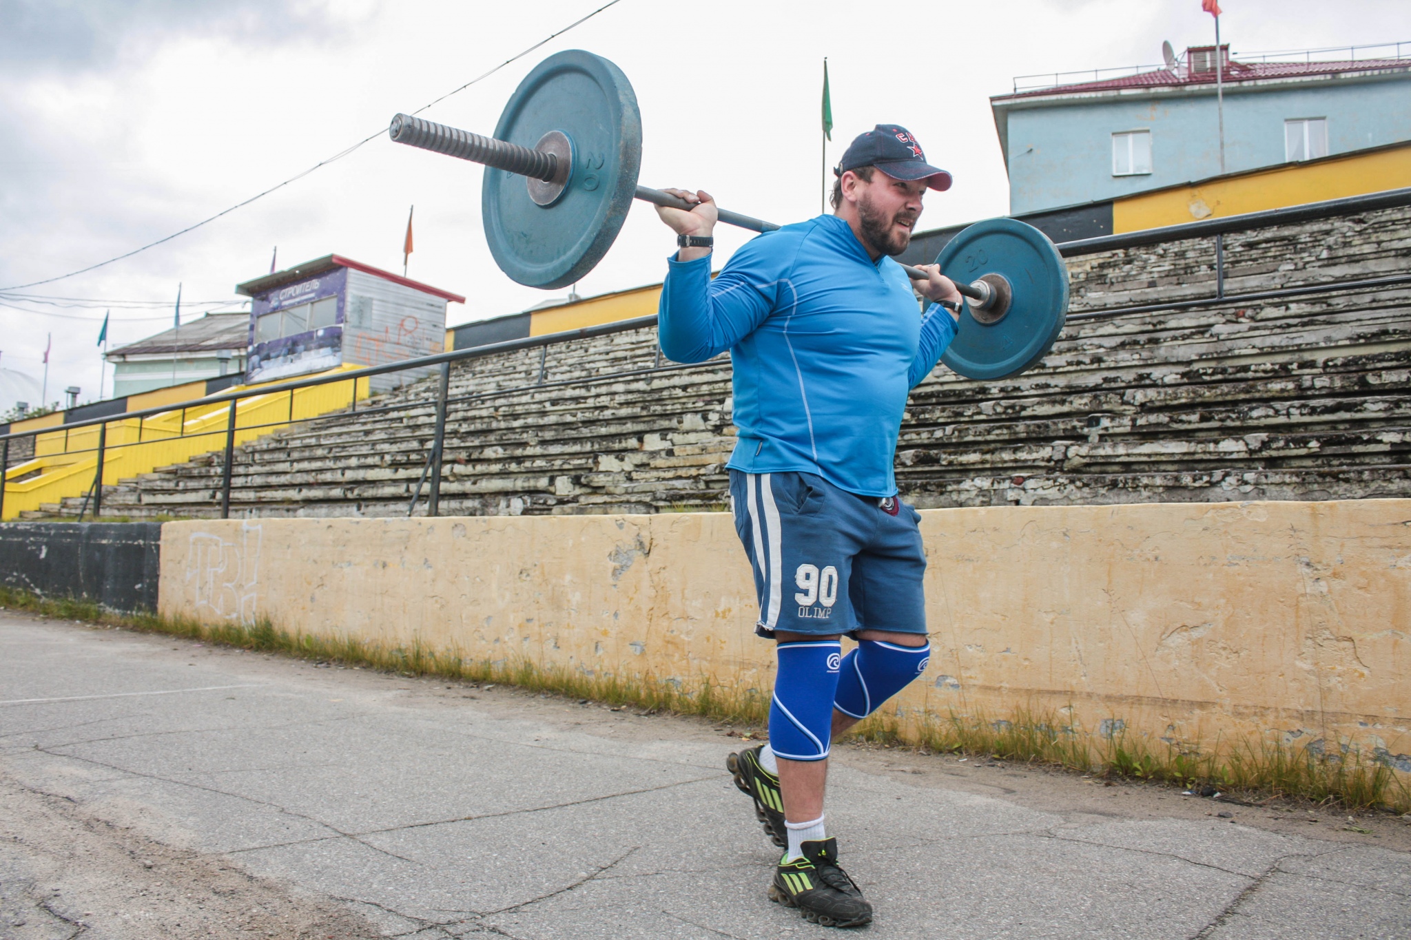
{"type": "MultiPolygon", "coordinates": [[[[1356,748],[1411,772],[1411,500],[921,517],[933,650],[886,706],[903,724],[1029,716],[1092,743],[1356,748]]],[[[727,699],[772,688],[728,513],[168,523],[159,607],[727,699]]]]}

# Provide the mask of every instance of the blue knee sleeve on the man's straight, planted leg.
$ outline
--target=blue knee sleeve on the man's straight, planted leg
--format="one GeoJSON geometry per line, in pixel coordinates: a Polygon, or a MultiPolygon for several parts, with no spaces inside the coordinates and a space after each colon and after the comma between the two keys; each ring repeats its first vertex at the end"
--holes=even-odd
{"type": "Polygon", "coordinates": [[[821,761],[832,738],[842,644],[804,640],[776,647],[779,672],[769,705],[769,747],[787,761],[821,761]]]}

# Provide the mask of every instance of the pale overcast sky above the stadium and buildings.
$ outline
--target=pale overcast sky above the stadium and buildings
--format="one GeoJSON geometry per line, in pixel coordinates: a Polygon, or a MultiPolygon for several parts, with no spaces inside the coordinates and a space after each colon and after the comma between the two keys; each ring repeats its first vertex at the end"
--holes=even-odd
{"type": "MultiPolygon", "coordinates": [[[[248,199],[604,1],[0,0],[0,287],[111,258],[248,199]]],[[[1235,54],[1411,39],[1405,0],[1223,8],[1235,54]]],[[[1213,41],[1199,0],[621,0],[426,117],[488,134],[535,63],[590,49],[636,90],[642,183],[704,187],[725,207],[787,223],[820,209],[828,56],[828,159],[876,123],[909,127],[955,178],[928,199],[920,228],[931,228],[1009,209],[991,94],[1016,75],[1158,63],[1163,39],[1177,51],[1213,41]]],[[[401,271],[413,203],[409,275],[467,296],[452,324],[522,310],[549,295],[491,261],[480,179],[384,134],[195,233],[25,292],[86,306],[6,300],[0,368],[38,379],[52,333],[48,397],[69,385],[97,397],[95,341],[110,302],[120,345],[171,324],[178,282],[183,320],[233,309],[234,285],[265,273],[275,245],[281,268],[337,252],[401,271]]],[[[717,230],[720,259],[746,237],[717,230]]],[[[638,203],[579,293],[660,280],[672,248],[638,203]]]]}

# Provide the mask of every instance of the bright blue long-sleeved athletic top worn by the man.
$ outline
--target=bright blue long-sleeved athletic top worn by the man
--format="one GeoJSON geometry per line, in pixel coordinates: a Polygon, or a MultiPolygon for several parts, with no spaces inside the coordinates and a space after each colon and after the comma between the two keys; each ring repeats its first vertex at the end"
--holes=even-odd
{"type": "Polygon", "coordinates": [[[729,466],[804,471],[862,496],[892,496],[906,396],[955,335],[938,304],[917,310],[892,258],[868,256],[837,216],[745,244],[711,280],[710,256],[670,261],[658,331],[662,354],[704,362],[729,350],[729,466]]]}

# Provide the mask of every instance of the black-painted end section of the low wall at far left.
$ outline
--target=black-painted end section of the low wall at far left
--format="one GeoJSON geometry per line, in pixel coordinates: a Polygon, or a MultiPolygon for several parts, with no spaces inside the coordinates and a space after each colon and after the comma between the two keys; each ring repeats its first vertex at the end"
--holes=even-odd
{"type": "Polygon", "coordinates": [[[155,610],[161,533],[158,523],[6,523],[0,585],[124,613],[155,610]]]}

